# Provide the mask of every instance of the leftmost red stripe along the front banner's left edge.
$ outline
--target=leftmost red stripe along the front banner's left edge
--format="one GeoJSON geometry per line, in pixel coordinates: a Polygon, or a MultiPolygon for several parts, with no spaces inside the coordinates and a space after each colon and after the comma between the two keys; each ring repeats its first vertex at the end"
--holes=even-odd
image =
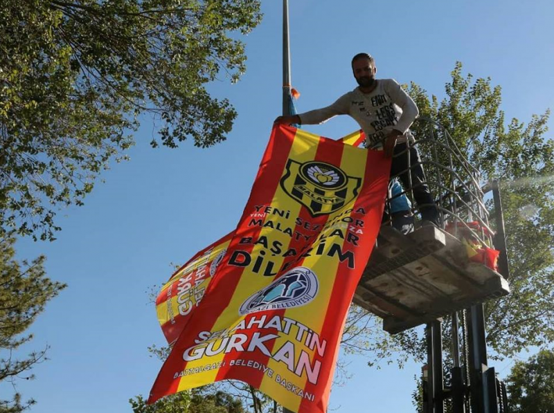
{"type": "MultiPolygon", "coordinates": [[[[271,203],[274,193],[276,191],[277,185],[280,180],[281,172],[283,165],[289,156],[290,148],[292,147],[292,140],[296,134],[296,128],[274,128],[271,131],[271,137],[269,139],[269,145],[265,150],[264,156],[262,157],[262,162],[260,163],[260,169],[256,175],[256,181],[259,180],[261,190],[258,192],[257,196],[263,196],[267,200],[267,203],[271,203]],[[280,134],[287,136],[288,139],[283,140],[278,146],[275,145],[275,138],[277,131],[280,131],[280,134]],[[272,162],[269,163],[269,160],[272,159],[272,162]],[[260,193],[262,195],[260,195],[260,193]]],[[[247,212],[253,210],[253,196],[250,195],[249,201],[247,202],[247,207],[244,208],[243,218],[247,212]]],[[[240,220],[242,222],[242,219],[240,220]]],[[[231,239],[231,244],[229,244],[229,250],[232,250],[238,245],[241,237],[244,234],[238,234],[238,230],[235,230],[235,236],[231,239]]],[[[250,228],[252,232],[256,230],[255,228],[250,228]]],[[[259,232],[260,229],[258,229],[259,232]]],[[[253,248],[253,246],[252,246],[253,248]]],[[[251,252],[251,251],[249,251],[251,252]]],[[[229,254],[226,254],[226,257],[222,261],[222,264],[218,266],[218,269],[213,275],[213,279],[210,282],[210,285],[206,289],[206,294],[204,300],[202,300],[199,308],[202,311],[195,311],[190,317],[190,320],[187,324],[187,328],[192,331],[199,331],[199,327],[204,325],[205,327],[213,328],[217,318],[220,317],[222,311],[226,306],[231,302],[231,298],[235,293],[235,288],[237,287],[238,282],[240,281],[240,276],[242,271],[237,271],[235,267],[229,266],[229,254]],[[229,277],[225,275],[230,273],[229,277]],[[234,273],[234,274],[233,274],[234,273]]],[[[197,309],[198,310],[198,309],[197,309]]],[[[181,333],[181,336],[177,339],[175,346],[173,347],[170,356],[166,359],[161,367],[161,370],[154,382],[152,390],[150,392],[150,397],[148,398],[148,403],[154,403],[159,398],[165,396],[166,394],[175,393],[179,387],[179,380],[175,380],[170,374],[170,371],[176,371],[177,366],[180,366],[179,369],[183,370],[186,367],[187,362],[184,361],[181,357],[184,349],[190,347],[194,344],[195,337],[184,337],[181,333]],[[171,367],[171,368],[170,368],[171,367]]]]}

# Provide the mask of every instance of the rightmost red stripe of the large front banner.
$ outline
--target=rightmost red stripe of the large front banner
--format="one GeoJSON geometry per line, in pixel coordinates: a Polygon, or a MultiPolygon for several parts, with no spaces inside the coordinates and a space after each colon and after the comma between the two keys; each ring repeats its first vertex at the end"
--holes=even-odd
{"type": "MultiPolygon", "coordinates": [[[[382,214],[384,210],[384,200],[386,196],[386,188],[388,187],[388,174],[383,176],[381,179],[378,179],[380,171],[389,171],[391,159],[385,158],[383,152],[380,151],[368,151],[368,157],[366,161],[366,173],[364,176],[364,185],[361,188],[360,195],[355,202],[354,212],[357,208],[360,208],[362,205],[366,205],[368,214],[364,218],[364,228],[369,230],[369,234],[364,234],[365,237],[370,239],[376,239],[377,233],[379,232],[382,214]]],[[[350,215],[352,215],[350,214],[350,215]]],[[[346,241],[344,241],[346,242],[346,241]]],[[[370,257],[371,246],[368,250],[360,252],[359,257],[360,261],[358,265],[365,266],[370,257]]],[[[354,295],[355,288],[359,282],[363,270],[359,272],[359,277],[357,280],[349,279],[348,275],[352,274],[352,270],[348,268],[346,261],[339,262],[339,267],[337,269],[337,276],[334,279],[332,295],[327,307],[327,313],[325,314],[325,321],[323,322],[323,329],[321,330],[321,337],[328,338],[328,349],[334,350],[334,357],[323,358],[323,363],[321,365],[321,376],[328,376],[332,378],[334,373],[334,367],[337,363],[337,357],[339,354],[338,345],[339,340],[342,337],[342,332],[344,329],[344,323],[346,322],[346,316],[348,315],[348,307],[352,301],[352,296],[354,295]],[[341,330],[339,334],[334,334],[333,331],[337,328],[337,325],[331,322],[337,316],[337,314],[344,314],[344,318],[341,323],[341,330]],[[329,322],[328,322],[329,321],[329,322]]],[[[320,402],[326,403],[329,399],[330,390],[331,390],[332,380],[329,379],[325,383],[325,388],[320,389],[321,399],[320,402]]],[[[313,385],[309,381],[305,384],[305,392],[311,394],[318,394],[317,385],[313,385]]],[[[310,405],[310,401],[307,401],[305,398],[301,401],[300,406],[298,407],[298,413],[303,412],[313,412],[313,405],[310,405]]],[[[323,405],[318,406],[323,411],[323,405]]]]}

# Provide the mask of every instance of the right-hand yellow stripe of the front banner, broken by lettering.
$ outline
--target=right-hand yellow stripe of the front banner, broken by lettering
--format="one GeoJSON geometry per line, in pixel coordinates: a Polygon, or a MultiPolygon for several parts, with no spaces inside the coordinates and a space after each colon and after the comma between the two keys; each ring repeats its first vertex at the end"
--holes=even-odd
{"type": "MultiPolygon", "coordinates": [[[[347,175],[361,176],[363,178],[366,167],[366,159],[366,150],[345,146],[341,159],[341,169],[346,172],[347,175]]],[[[361,185],[363,185],[363,181],[361,185]]],[[[345,207],[342,208],[340,211],[334,212],[333,214],[329,215],[327,222],[331,223],[333,221],[337,221],[337,223],[333,224],[332,226],[330,226],[330,228],[328,228],[328,230],[325,231],[326,235],[329,235],[335,229],[340,229],[343,232],[344,237],[346,237],[346,234],[348,232],[348,223],[342,222],[341,217],[339,216],[343,214],[343,211],[352,208],[356,199],[357,198],[352,199],[352,201],[350,201],[348,205],[345,205],[345,207]]],[[[348,217],[349,215],[350,214],[343,215],[343,217],[348,217]]],[[[330,237],[328,241],[334,241],[335,243],[339,244],[341,248],[344,248],[345,241],[340,237],[330,237]]],[[[326,248],[328,248],[328,246],[326,248]]],[[[311,256],[304,259],[302,266],[310,268],[318,276],[319,291],[314,300],[310,302],[309,306],[287,309],[285,317],[296,320],[296,322],[302,324],[303,326],[309,327],[314,333],[317,333],[319,335],[319,333],[321,333],[321,331],[323,330],[326,311],[328,311],[329,302],[333,292],[332,288],[334,285],[334,279],[337,275],[337,270],[339,267],[339,260],[337,259],[337,257],[327,257],[326,255],[311,256]],[[312,310],[310,311],[309,309],[312,310]]],[[[300,324],[297,324],[296,327],[296,333],[298,334],[298,336],[290,338],[290,341],[294,342],[295,344],[294,366],[296,368],[298,367],[298,365],[301,365],[301,363],[299,363],[301,357],[303,357],[303,360],[314,360],[314,355],[316,354],[316,352],[319,352],[320,354],[323,353],[323,338],[320,338],[316,341],[319,346],[314,345],[314,347],[310,349],[307,345],[305,345],[305,341],[308,338],[310,338],[311,341],[311,338],[314,338],[314,333],[309,333],[309,331],[302,331],[303,327],[298,328],[300,324]],[[300,336],[301,333],[302,335],[300,336]],[[299,342],[303,342],[303,344],[300,344],[299,342]]],[[[288,340],[289,337],[287,336],[279,338],[276,341],[276,345],[274,346],[274,352],[285,345],[288,340]]],[[[325,348],[325,351],[334,351],[334,349],[325,348]]],[[[319,356],[318,358],[319,360],[321,360],[321,356],[319,356]]],[[[277,362],[273,359],[270,359],[268,362],[268,367],[274,369],[275,371],[278,371],[279,369],[283,369],[283,362],[277,362]]],[[[303,390],[305,388],[305,385],[307,384],[308,374],[310,374],[310,378],[312,381],[315,379],[317,367],[314,367],[316,367],[316,365],[312,364],[310,367],[306,366],[305,368],[303,368],[301,377],[298,377],[293,372],[289,372],[286,378],[287,382],[298,387],[298,389],[303,390]],[[311,369],[310,373],[307,372],[307,368],[311,369]]],[[[298,410],[298,407],[300,406],[300,403],[302,401],[302,398],[298,395],[284,390],[282,380],[278,380],[276,377],[269,378],[267,376],[264,376],[260,389],[271,394],[281,392],[283,398],[280,398],[280,403],[283,403],[283,405],[285,405],[285,407],[290,410],[298,410]]],[[[307,399],[310,399],[313,396],[314,395],[312,394],[303,395],[303,397],[307,399]]]]}

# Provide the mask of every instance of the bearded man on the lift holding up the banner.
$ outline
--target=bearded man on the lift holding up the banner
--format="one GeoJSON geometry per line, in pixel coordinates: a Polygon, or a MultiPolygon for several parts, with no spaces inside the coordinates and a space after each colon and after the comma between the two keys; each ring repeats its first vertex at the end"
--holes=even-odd
{"type": "Polygon", "coordinates": [[[409,127],[418,116],[418,107],[393,79],[375,79],[375,60],[367,53],[352,58],[352,73],[359,86],[328,107],[278,116],[285,125],[317,125],[337,115],[350,115],[366,134],[366,147],[382,149],[393,156],[391,176],[398,175],[404,187],[412,187],[422,219],[439,225],[438,210],[425,181],[418,149],[408,143],[415,139],[409,127]],[[409,146],[409,147],[408,147],[409,146]],[[411,170],[407,171],[408,165],[411,170]]]}

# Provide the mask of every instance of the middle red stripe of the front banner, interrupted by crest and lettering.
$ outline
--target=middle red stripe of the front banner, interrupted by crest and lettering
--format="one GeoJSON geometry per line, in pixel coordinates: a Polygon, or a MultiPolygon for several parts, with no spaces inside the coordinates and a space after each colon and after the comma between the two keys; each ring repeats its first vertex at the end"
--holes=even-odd
{"type": "MultiPolygon", "coordinates": [[[[316,149],[316,154],[314,156],[314,160],[324,161],[327,163],[332,163],[333,165],[341,165],[341,158],[343,154],[343,145],[337,145],[337,142],[333,139],[328,138],[319,138],[319,145],[316,149]]],[[[279,176],[280,178],[280,176],[279,176]]],[[[312,214],[307,210],[305,206],[302,206],[298,217],[302,219],[302,221],[309,221],[311,223],[314,223],[316,225],[321,225],[321,228],[325,225],[325,222],[328,220],[329,215],[321,215],[320,217],[312,217],[312,214]]],[[[242,220],[241,220],[242,221],[242,220]]],[[[294,231],[298,232],[301,229],[301,225],[296,224],[294,227],[294,231]]],[[[314,237],[317,235],[314,234],[314,237]]],[[[292,237],[291,241],[289,242],[289,246],[287,248],[294,248],[295,250],[299,250],[300,247],[303,245],[302,239],[294,239],[292,237]]],[[[289,259],[289,261],[294,260],[295,257],[292,257],[292,259],[289,259]]],[[[289,262],[288,261],[288,262],[289,262]]],[[[295,266],[301,266],[304,259],[299,261],[295,266]]],[[[283,265],[285,264],[284,261],[283,265]]],[[[285,273],[285,270],[279,271],[278,275],[274,277],[274,279],[280,277],[285,273]]],[[[268,283],[269,284],[269,283],[268,283]]],[[[283,317],[285,315],[286,309],[282,310],[271,310],[271,311],[260,311],[258,314],[258,317],[261,317],[262,315],[266,315],[266,320],[271,320],[275,315],[278,315],[279,317],[283,317]]],[[[256,329],[256,331],[262,331],[262,329],[256,329]]],[[[278,331],[276,331],[277,333],[278,331]]],[[[268,343],[266,347],[271,352],[273,350],[273,347],[275,345],[275,340],[268,343]]],[[[253,376],[253,373],[251,369],[249,368],[242,368],[239,369],[237,366],[229,366],[229,360],[232,360],[236,358],[236,355],[233,353],[229,353],[224,357],[224,360],[226,360],[225,366],[220,367],[220,369],[217,371],[217,378],[216,380],[222,380],[224,378],[233,378],[235,380],[242,380],[244,382],[249,383],[253,387],[259,388],[262,384],[262,380],[264,378],[264,373],[262,371],[258,371],[256,373],[256,376],[253,376]]],[[[267,365],[269,362],[269,356],[265,356],[261,353],[253,353],[249,354],[249,360],[253,360],[255,362],[259,362],[260,365],[267,365]]]]}

